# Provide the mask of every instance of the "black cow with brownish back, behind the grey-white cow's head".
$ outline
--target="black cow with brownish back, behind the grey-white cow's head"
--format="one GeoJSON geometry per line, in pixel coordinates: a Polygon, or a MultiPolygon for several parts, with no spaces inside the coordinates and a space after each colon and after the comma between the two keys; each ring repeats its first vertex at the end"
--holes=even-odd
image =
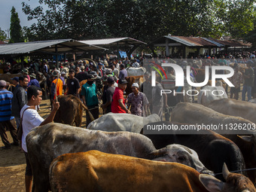
{"type": "MultiPolygon", "coordinates": [[[[163,148],[166,145],[179,144],[187,146],[197,152],[202,163],[215,173],[221,172],[223,163],[227,163],[230,170],[245,169],[245,161],[239,148],[224,136],[214,133],[211,130],[181,130],[182,126],[189,126],[189,124],[172,123],[169,121],[161,121],[156,123],[149,123],[145,125],[142,132],[153,142],[156,148],[163,148]],[[146,134],[145,130],[156,125],[176,125],[177,130],[168,130],[168,134],[146,134]]],[[[164,154],[163,149],[155,151],[155,154],[164,154]]],[[[245,172],[242,172],[245,174],[245,172]]],[[[218,178],[224,181],[222,175],[218,178]]]]}

